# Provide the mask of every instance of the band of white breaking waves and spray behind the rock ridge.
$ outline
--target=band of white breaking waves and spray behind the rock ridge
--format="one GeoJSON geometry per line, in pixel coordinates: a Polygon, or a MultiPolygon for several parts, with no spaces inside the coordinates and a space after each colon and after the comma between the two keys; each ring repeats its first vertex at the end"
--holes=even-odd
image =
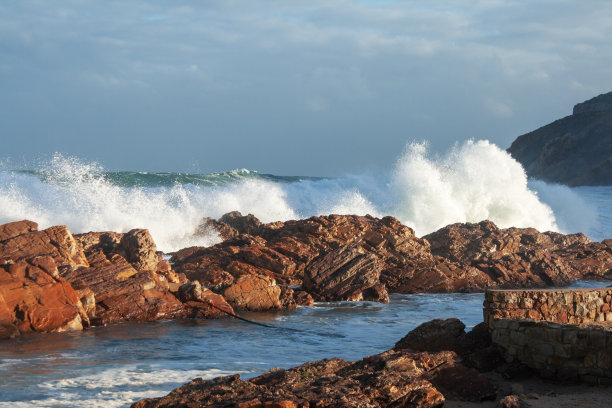
{"type": "Polygon", "coordinates": [[[419,236],[450,223],[490,219],[500,227],[593,230],[592,238],[602,239],[610,235],[598,218],[606,206],[585,200],[585,191],[528,183],[520,164],[487,141],[467,141],[439,157],[430,156],[426,144],[413,143],[386,172],[339,178],[249,170],[108,173],[96,163],[56,154],[34,170],[0,169],[0,223],[27,218],[41,228],[65,224],[75,233],[148,228],[166,252],[218,242],[212,231],[194,231],[203,217],[234,210],[263,222],[393,215],[419,236]]]}

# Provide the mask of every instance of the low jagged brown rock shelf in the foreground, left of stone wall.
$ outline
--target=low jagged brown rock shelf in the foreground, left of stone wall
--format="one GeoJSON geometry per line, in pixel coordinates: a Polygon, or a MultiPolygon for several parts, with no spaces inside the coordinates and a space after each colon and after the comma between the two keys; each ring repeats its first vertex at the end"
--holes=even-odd
{"type": "Polygon", "coordinates": [[[334,358],[273,369],[250,380],[197,378],[132,406],[441,407],[445,397],[478,402],[494,399],[496,389],[453,351],[394,349],[357,362],[334,358]]]}

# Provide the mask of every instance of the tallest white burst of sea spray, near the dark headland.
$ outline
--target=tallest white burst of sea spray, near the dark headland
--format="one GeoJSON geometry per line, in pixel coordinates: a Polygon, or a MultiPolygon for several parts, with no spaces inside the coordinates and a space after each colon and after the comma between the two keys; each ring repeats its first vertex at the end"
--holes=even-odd
{"type": "Polygon", "coordinates": [[[521,165],[488,141],[467,141],[435,160],[412,143],[390,182],[390,213],[417,235],[455,222],[492,220],[499,227],[558,230],[555,216],[527,187],[521,165]]]}

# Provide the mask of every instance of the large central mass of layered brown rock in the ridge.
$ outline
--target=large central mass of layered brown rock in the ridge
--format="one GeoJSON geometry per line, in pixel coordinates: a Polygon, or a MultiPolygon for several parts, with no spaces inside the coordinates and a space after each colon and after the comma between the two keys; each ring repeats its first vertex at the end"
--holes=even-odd
{"type": "MultiPolygon", "coordinates": [[[[257,275],[273,278],[281,290],[304,284],[318,300],[386,301],[384,274],[434,265],[428,243],[393,217],[330,215],[261,225],[252,216],[232,214],[222,219],[241,228],[231,227],[238,234],[230,234],[234,238],[172,257],[178,272],[219,293],[241,276],[257,275]]],[[[225,225],[220,233],[227,233],[225,225]]]]}

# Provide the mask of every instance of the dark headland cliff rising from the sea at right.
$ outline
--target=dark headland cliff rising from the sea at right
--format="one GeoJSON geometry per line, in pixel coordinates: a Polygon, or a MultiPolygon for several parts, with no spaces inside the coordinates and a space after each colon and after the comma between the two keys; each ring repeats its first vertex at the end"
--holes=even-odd
{"type": "Polygon", "coordinates": [[[569,186],[612,185],[612,92],[519,136],[508,152],[530,177],[569,186]]]}

